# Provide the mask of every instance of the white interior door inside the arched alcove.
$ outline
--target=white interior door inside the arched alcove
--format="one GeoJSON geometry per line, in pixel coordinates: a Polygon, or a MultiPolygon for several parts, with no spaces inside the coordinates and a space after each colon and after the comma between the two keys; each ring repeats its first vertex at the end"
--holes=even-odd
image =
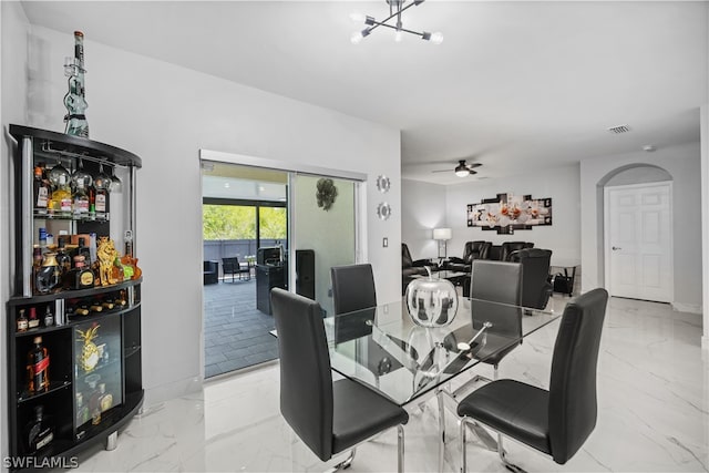
{"type": "Polygon", "coordinates": [[[671,183],[606,187],[605,203],[608,292],[671,302],[671,183]]]}

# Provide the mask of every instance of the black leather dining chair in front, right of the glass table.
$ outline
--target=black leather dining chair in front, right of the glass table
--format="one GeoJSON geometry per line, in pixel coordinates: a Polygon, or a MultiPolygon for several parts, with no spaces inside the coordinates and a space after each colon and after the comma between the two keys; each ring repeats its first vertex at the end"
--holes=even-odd
{"type": "Polygon", "coordinates": [[[565,464],[596,425],[596,367],[608,292],[590,290],[572,300],[562,316],[552,357],[549,389],[503,379],[483,385],[458,405],[461,421],[463,473],[466,472],[465,431],[479,421],[497,431],[497,452],[510,463],[502,435],[515,439],[565,464]]]}

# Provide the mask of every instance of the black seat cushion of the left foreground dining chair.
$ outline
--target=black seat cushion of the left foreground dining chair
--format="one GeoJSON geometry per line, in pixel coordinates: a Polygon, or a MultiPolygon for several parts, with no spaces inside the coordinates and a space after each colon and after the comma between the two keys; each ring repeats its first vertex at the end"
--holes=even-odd
{"type": "Polygon", "coordinates": [[[342,379],[332,383],[335,400],[332,453],[339,453],[370,436],[409,421],[405,410],[371,389],[342,379]]]}

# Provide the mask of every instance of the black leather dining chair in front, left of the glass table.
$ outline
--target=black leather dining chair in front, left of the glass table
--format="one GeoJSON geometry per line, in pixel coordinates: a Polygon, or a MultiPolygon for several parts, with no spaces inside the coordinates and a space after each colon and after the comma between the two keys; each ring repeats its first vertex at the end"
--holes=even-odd
{"type": "Polygon", "coordinates": [[[280,412],[323,462],[393,426],[398,428],[398,471],[403,471],[407,411],[364,385],[332,382],[320,305],[274,288],[271,308],[280,353],[280,412]]]}

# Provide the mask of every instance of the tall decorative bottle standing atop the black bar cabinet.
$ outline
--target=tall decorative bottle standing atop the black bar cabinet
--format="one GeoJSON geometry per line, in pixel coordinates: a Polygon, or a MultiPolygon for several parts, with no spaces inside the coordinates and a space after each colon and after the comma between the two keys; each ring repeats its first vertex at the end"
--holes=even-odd
{"type": "Polygon", "coordinates": [[[74,56],[66,58],[64,62],[64,75],[69,78],[69,92],[64,95],[66,107],[66,130],[64,133],[73,136],[89,137],[89,122],[86,121],[85,85],[84,85],[84,33],[74,31],[74,56]]]}

